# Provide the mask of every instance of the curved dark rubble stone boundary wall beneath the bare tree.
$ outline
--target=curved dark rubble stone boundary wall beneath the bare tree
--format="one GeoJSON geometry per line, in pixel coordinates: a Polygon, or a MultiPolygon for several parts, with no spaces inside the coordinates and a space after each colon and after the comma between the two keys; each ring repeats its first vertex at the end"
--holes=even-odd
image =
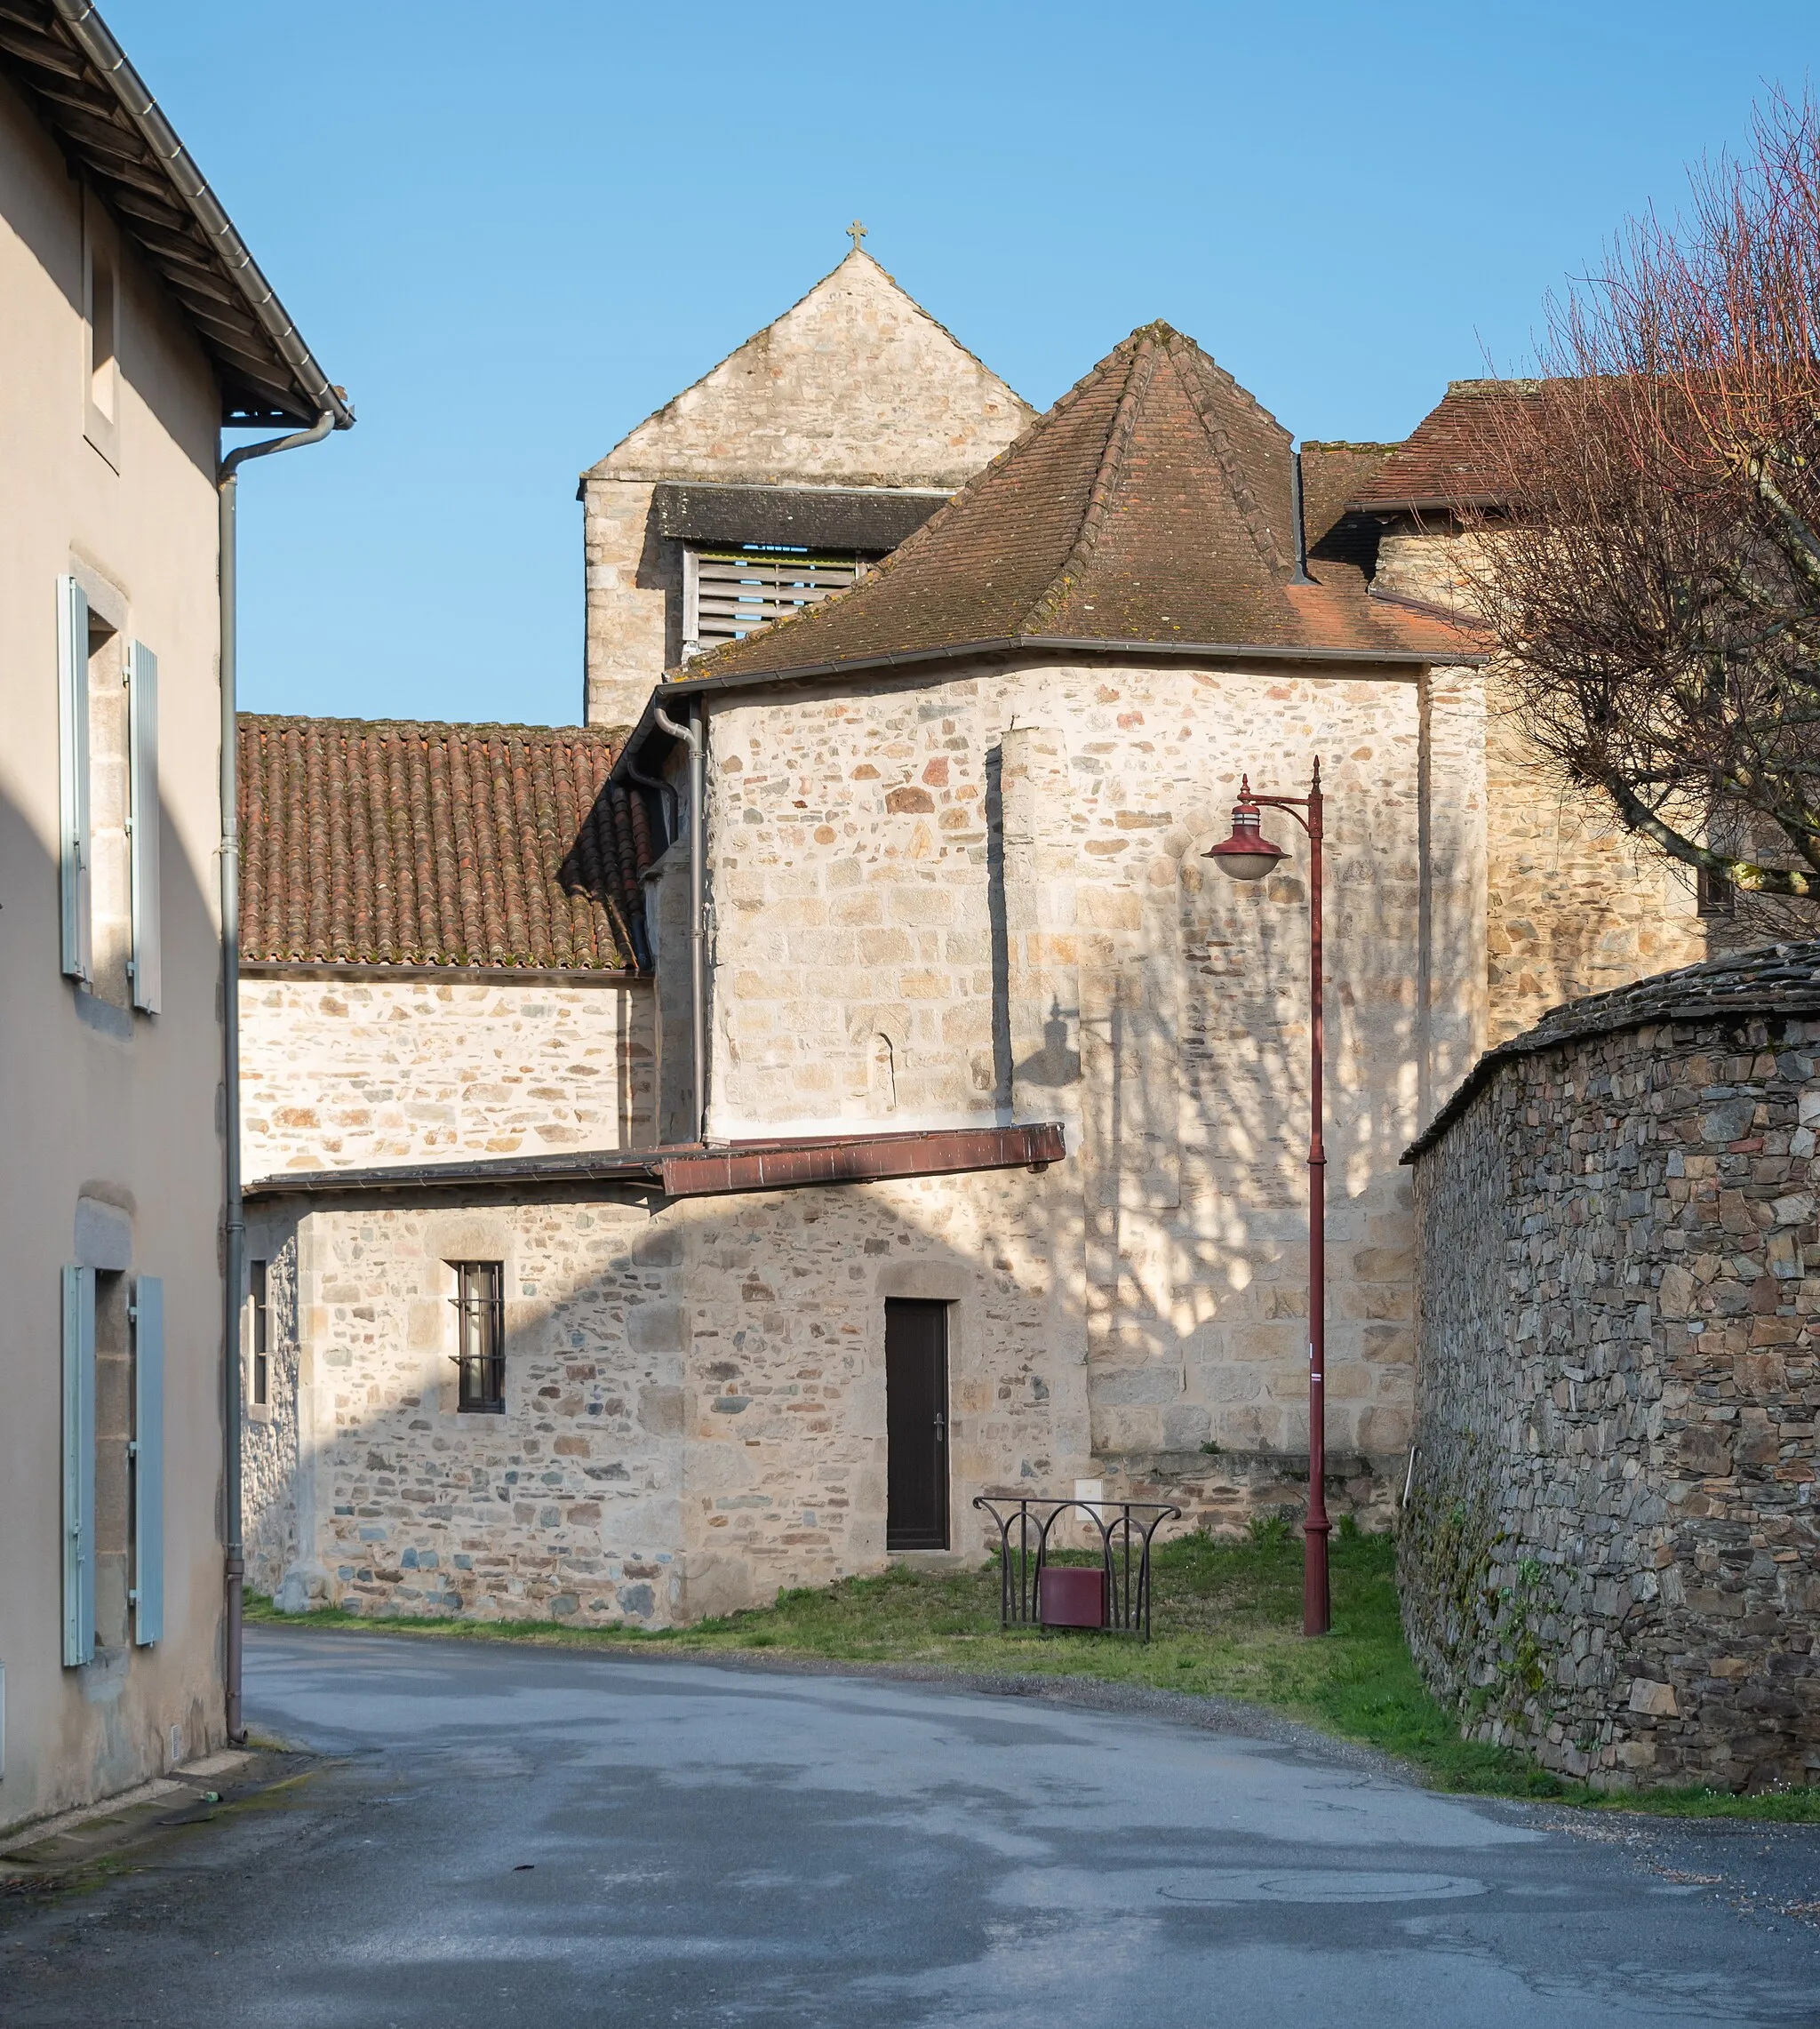
{"type": "Polygon", "coordinates": [[[1416,1165],[1404,1621],[1607,1786],[1820,1779],[1820,1021],[1501,1063],[1416,1165]]]}

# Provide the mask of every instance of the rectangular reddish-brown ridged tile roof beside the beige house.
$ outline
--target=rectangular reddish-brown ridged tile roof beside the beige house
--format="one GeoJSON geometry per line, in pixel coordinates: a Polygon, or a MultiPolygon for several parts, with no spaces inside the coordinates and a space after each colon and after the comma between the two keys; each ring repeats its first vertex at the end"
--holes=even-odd
{"type": "Polygon", "coordinates": [[[248,964],[633,972],[651,834],[580,726],[239,720],[248,964]]]}

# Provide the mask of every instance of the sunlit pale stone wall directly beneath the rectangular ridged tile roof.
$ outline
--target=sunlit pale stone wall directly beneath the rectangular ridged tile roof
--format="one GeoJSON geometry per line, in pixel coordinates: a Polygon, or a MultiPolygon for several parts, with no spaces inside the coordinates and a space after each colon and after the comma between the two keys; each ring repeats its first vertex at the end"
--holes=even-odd
{"type": "Polygon", "coordinates": [[[241,1165],[361,1169],[651,1142],[651,990],[248,978],[241,1165]]]}

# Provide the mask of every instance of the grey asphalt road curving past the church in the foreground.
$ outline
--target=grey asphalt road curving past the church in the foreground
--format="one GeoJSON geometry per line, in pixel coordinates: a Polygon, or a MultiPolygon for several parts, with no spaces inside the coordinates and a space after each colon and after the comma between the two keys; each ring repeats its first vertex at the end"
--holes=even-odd
{"type": "Polygon", "coordinates": [[[1820,2025],[1820,1828],[879,1678],[248,1635],[333,1757],[0,1926],[0,2021],[1820,2025]],[[1808,1913],[1800,1911],[1808,1903],[1808,1913]]]}

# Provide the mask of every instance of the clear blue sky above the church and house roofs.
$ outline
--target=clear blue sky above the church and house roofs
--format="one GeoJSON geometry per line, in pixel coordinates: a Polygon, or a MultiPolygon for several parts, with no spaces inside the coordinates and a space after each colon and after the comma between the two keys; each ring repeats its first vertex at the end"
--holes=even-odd
{"type": "Polygon", "coordinates": [[[868,252],[1045,406],[1134,325],[1394,438],[1672,207],[1812,0],[103,0],[359,426],[241,483],[260,710],[580,712],[576,475],[868,252]]]}

